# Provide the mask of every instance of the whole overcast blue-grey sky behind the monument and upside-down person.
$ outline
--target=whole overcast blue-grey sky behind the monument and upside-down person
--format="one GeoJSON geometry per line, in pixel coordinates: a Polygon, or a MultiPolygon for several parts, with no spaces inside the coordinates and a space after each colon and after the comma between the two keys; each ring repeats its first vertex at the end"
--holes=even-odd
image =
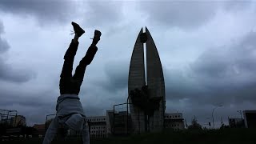
{"type": "MultiPolygon", "coordinates": [[[[87,116],[126,102],[130,57],[148,27],[161,58],[166,112],[190,123],[240,117],[256,109],[256,2],[251,1],[0,1],[0,109],[18,110],[29,126],[55,113],[63,56],[80,38],[74,68],[102,31],[80,98],[87,116]],[[207,118],[210,118],[208,120],[207,118]]],[[[120,107],[122,110],[122,107],[120,107]]]]}

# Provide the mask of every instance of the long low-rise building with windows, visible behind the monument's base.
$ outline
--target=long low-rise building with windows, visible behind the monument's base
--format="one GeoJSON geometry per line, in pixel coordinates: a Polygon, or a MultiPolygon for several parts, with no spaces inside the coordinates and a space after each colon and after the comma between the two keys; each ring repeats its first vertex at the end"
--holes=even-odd
{"type": "MultiPolygon", "coordinates": [[[[107,138],[111,134],[130,134],[132,122],[126,111],[106,110],[106,116],[87,117],[90,127],[90,138],[107,138]],[[127,119],[128,118],[128,119],[127,119]]],[[[182,113],[165,114],[165,128],[184,130],[182,113]]],[[[81,135],[81,132],[69,130],[70,136],[81,135]]]]}

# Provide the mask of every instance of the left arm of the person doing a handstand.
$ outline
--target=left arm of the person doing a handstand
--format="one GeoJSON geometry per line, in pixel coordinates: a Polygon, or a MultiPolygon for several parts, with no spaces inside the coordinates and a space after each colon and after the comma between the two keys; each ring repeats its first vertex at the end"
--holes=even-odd
{"type": "Polygon", "coordinates": [[[55,117],[52,122],[50,122],[50,126],[46,131],[45,138],[43,139],[42,144],[50,144],[54,140],[54,136],[58,130],[58,118],[55,117]]]}

